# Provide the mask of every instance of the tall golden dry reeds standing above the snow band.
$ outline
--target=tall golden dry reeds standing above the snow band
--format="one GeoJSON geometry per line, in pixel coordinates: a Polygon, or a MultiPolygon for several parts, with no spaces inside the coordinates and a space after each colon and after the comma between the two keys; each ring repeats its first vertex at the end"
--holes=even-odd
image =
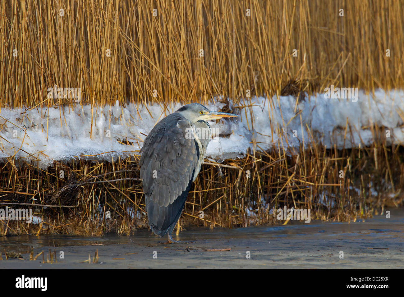
{"type": "Polygon", "coordinates": [[[98,105],[116,99],[203,103],[216,95],[237,103],[247,89],[252,95],[280,94],[290,79],[310,82],[309,91],[331,84],[370,91],[404,86],[400,1],[0,5],[0,107],[69,103],[47,98],[47,88],[55,85],[80,87],[82,104],[98,105]]]}

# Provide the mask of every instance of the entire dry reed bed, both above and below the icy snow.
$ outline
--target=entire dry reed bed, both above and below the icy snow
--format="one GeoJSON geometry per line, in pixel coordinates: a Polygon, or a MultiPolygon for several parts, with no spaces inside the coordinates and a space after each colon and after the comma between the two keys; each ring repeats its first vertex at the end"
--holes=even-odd
{"type": "MultiPolygon", "coordinates": [[[[4,1],[0,9],[0,107],[72,106],[47,98],[54,85],[80,87],[80,104],[94,106],[204,103],[216,95],[237,104],[247,89],[299,96],[331,84],[369,91],[404,86],[399,1],[38,0],[4,1]]],[[[313,139],[306,150],[281,143],[243,160],[205,164],[181,226],[272,223],[270,209],[283,205],[311,208],[312,219],[324,220],[366,218],[402,205],[402,147],[387,147],[382,131],[373,127],[375,142],[361,149],[326,149],[313,139]]],[[[47,171],[30,164],[17,171],[10,159],[1,165],[6,204],[0,206],[48,206],[33,206],[40,225],[0,221],[0,234],[129,234],[146,227],[138,179],[137,156],[114,164],[56,162],[47,171]]]]}

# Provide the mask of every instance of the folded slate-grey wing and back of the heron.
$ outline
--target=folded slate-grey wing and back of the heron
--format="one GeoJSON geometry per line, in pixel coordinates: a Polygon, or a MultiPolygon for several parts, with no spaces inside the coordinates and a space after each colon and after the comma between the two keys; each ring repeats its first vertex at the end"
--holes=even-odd
{"type": "Polygon", "coordinates": [[[160,230],[172,223],[185,203],[183,192],[189,190],[199,155],[191,133],[191,122],[171,114],[151,130],[141,149],[147,215],[160,230]]]}

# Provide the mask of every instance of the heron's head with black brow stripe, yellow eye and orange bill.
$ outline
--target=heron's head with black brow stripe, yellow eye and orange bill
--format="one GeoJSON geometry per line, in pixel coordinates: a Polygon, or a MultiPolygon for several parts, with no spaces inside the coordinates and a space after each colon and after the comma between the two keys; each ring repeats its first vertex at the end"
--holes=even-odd
{"type": "Polygon", "coordinates": [[[198,122],[198,120],[217,120],[219,118],[232,118],[238,116],[237,114],[228,114],[227,112],[214,112],[208,110],[202,104],[191,103],[180,107],[177,112],[184,116],[187,120],[192,123],[198,122]]]}

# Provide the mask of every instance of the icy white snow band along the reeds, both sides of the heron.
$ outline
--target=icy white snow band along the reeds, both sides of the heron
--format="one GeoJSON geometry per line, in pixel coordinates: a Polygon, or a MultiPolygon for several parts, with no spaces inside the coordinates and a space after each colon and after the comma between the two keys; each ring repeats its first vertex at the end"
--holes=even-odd
{"type": "MultiPolygon", "coordinates": [[[[389,130],[387,143],[404,143],[404,91],[377,90],[374,95],[359,91],[357,99],[356,102],[329,99],[324,94],[306,97],[299,103],[293,96],[243,99],[237,106],[249,107],[234,108],[240,112],[240,118],[211,122],[213,139],[207,155],[223,160],[242,157],[248,148],[268,150],[279,145],[293,150],[300,143],[309,145],[312,137],[327,147],[370,145],[372,125],[389,130]]],[[[46,169],[54,160],[111,161],[139,154],[144,134],[180,106],[177,103],[163,109],[159,104],[129,103],[122,107],[117,102],[93,109],[91,105],[79,104],[73,109],[69,106],[1,108],[0,162],[13,157],[16,164],[24,160],[46,169]],[[125,138],[133,145],[118,142],[125,138]]],[[[212,102],[207,107],[218,110],[223,103],[212,102]]]]}

